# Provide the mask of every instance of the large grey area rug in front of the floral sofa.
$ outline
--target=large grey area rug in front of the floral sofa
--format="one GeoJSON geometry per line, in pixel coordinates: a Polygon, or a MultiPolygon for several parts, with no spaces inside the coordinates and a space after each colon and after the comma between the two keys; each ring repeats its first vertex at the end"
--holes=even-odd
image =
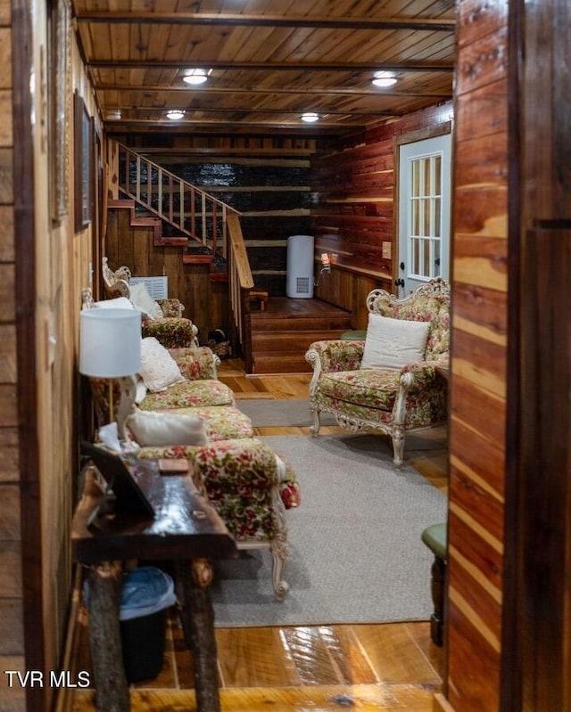
{"type": "Polygon", "coordinates": [[[316,626],[424,620],[432,556],[424,528],[446,497],[370,435],[261,438],[292,464],[302,504],[287,511],[290,591],[274,600],[269,551],[219,561],[216,626],[316,626]]]}

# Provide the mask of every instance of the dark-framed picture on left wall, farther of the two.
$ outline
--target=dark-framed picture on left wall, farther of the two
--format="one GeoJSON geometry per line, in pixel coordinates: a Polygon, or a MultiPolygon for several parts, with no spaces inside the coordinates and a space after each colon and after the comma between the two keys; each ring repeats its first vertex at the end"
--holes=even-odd
{"type": "Polygon", "coordinates": [[[83,230],[93,217],[93,119],[76,91],[73,99],[74,120],[74,202],[75,230],[83,230]]]}

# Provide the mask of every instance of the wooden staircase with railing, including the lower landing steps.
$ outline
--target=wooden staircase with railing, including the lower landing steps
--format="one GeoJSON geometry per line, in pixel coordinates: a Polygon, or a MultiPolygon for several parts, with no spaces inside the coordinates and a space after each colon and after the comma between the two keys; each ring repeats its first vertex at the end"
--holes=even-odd
{"type": "Polygon", "coordinates": [[[111,145],[108,170],[116,197],[108,200],[108,207],[128,208],[132,224],[153,229],[155,245],[179,246],[184,262],[208,263],[211,281],[228,281],[230,313],[247,373],[310,372],[304,358],[310,344],[337,339],[352,328],[349,312],[319,299],[268,301],[265,292],[254,289],[236,210],[127,146],[111,145]],[[119,200],[117,193],[128,200],[119,200]],[[153,217],[137,215],[136,204],[153,217]],[[178,234],[163,234],[163,223],[178,234]]]}

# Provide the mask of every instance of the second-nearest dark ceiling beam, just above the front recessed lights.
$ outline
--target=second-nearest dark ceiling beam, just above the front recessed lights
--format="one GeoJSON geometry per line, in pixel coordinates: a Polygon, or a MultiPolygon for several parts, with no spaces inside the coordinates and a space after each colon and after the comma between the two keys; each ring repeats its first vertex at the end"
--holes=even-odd
{"type": "Polygon", "coordinates": [[[354,62],[291,62],[291,61],[162,61],[162,60],[90,60],[90,69],[105,70],[179,70],[181,67],[193,67],[206,70],[252,70],[252,71],[412,71],[412,72],[447,72],[454,70],[453,64],[423,61],[368,61],[354,62]]]}

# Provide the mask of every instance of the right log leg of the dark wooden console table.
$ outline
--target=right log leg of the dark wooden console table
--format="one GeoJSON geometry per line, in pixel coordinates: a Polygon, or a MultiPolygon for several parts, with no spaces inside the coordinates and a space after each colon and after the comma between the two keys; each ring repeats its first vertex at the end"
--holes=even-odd
{"type": "Polygon", "coordinates": [[[186,644],[194,654],[194,692],[198,712],[219,712],[218,655],[210,561],[176,561],[177,597],[186,644]]]}

